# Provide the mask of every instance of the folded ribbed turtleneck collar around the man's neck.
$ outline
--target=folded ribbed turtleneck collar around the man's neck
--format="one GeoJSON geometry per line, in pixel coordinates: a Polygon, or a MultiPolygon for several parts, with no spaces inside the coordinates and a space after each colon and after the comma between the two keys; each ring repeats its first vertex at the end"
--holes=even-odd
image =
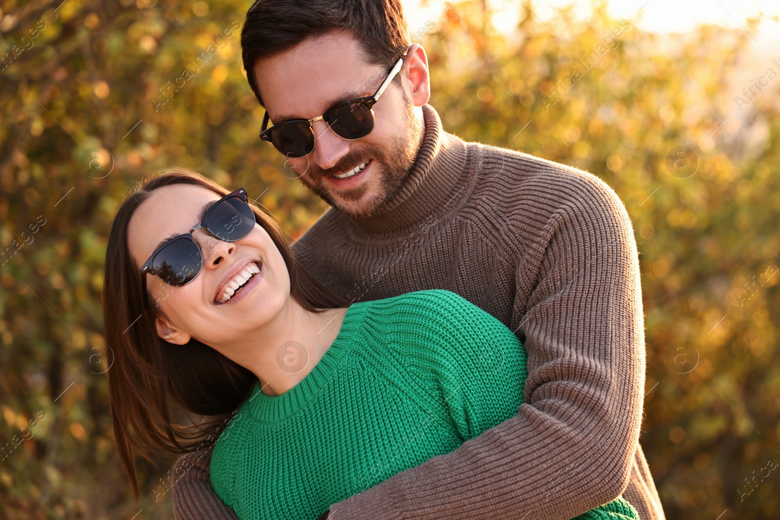
{"type": "MultiPolygon", "coordinates": [[[[391,232],[406,228],[443,206],[457,210],[470,191],[466,144],[441,128],[441,119],[430,104],[423,105],[425,130],[409,177],[399,193],[378,213],[350,219],[363,232],[391,232]]],[[[346,218],[346,215],[342,215],[346,218]]]]}

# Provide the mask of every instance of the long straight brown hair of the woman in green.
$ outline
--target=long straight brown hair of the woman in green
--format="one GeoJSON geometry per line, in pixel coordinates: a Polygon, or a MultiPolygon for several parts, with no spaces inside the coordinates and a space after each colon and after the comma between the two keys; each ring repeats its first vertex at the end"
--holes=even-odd
{"type": "MultiPolygon", "coordinates": [[[[250,370],[194,338],[186,345],[159,338],[154,304],[145,310],[148,295],[141,294],[140,268],[129,253],[127,228],[155,189],[175,184],[203,186],[219,196],[229,193],[211,179],[183,168],[145,179],[119,207],[106,249],[103,316],[106,345],[113,354],[113,359],[108,356],[112,364],[107,373],[111,416],[119,457],[136,501],[133,450],[151,461],[157,451],[186,453],[214,444],[257,381],[250,370]],[[180,416],[181,411],[206,417],[197,424],[177,423],[172,415],[180,416]]],[[[319,312],[349,306],[300,265],[282,230],[267,214],[254,205],[252,210],[282,253],[290,293],[303,308],[319,312]]]]}

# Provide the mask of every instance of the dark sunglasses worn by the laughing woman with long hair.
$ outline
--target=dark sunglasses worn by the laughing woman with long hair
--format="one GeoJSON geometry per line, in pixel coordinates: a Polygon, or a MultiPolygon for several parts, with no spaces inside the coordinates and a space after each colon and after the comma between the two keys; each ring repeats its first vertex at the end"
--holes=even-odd
{"type": "Polygon", "coordinates": [[[144,267],[141,267],[141,286],[146,295],[146,275],[154,274],[173,287],[187,285],[203,268],[200,246],[193,240],[197,228],[205,228],[215,238],[236,242],[249,235],[254,228],[254,211],[246,201],[246,190],[236,189],[213,203],[205,212],[200,224],[190,232],[165,241],[154,249],[144,267]]]}

